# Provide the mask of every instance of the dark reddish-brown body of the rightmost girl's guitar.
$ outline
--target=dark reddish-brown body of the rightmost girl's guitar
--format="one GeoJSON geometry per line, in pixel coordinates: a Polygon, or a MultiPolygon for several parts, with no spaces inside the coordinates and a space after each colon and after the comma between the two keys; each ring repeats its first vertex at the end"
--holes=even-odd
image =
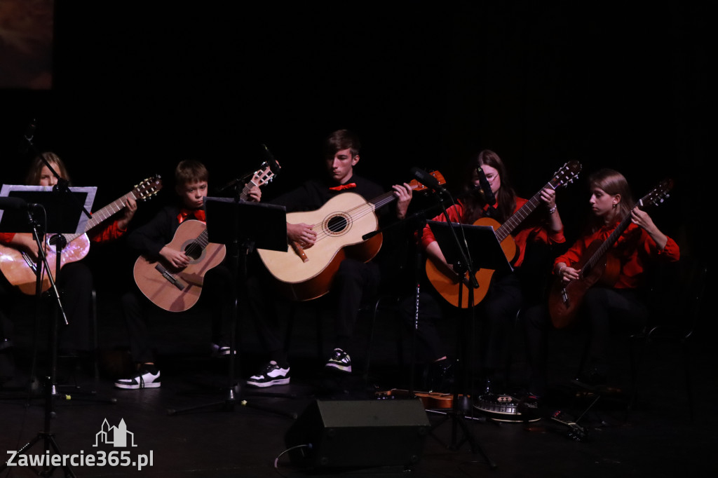
{"type": "MultiPolygon", "coordinates": [[[[574,264],[574,268],[583,268],[602,245],[602,240],[592,242],[586,249],[581,261],[574,264]]],[[[619,273],[620,261],[609,252],[599,258],[595,266],[576,281],[571,281],[564,285],[560,278],[556,278],[551,286],[551,291],[549,291],[549,315],[554,327],[563,329],[571,325],[581,304],[583,304],[583,299],[588,289],[591,289],[596,283],[612,286],[616,283],[619,273]]]]}

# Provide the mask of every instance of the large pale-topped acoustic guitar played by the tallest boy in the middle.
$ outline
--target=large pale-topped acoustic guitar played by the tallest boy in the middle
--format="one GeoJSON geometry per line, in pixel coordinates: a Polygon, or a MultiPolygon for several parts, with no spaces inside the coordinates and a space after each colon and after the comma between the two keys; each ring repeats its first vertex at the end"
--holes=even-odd
{"type": "MultiPolygon", "coordinates": [[[[446,183],[440,172],[431,175],[439,184],[446,183]]],[[[409,186],[414,191],[426,189],[416,179],[409,186]]],[[[393,192],[370,201],[355,192],[343,192],[317,210],[290,212],[286,222],[314,224],[316,243],[306,250],[296,245],[286,252],[257,249],[259,257],[284,295],[299,301],[316,299],[330,290],[345,258],[368,262],[376,256],[381,248],[381,234],[368,240],[362,236],[378,228],[376,210],[395,199],[393,192]]]]}

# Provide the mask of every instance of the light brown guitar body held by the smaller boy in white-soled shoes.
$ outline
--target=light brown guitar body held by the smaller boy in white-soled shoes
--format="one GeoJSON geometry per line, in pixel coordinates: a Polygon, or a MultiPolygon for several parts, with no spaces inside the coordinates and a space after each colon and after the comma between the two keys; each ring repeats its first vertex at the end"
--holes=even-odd
{"type": "Polygon", "coordinates": [[[197,304],[205,273],[218,266],[226,255],[223,244],[208,243],[206,246],[195,247],[197,238],[206,230],[203,222],[186,220],[167,244],[167,247],[182,250],[192,258],[185,268],[178,270],[164,260],[150,261],[144,256],[137,258],[134,279],[147,299],[171,312],[185,311],[197,304]],[[188,252],[188,248],[197,253],[188,252]]]}

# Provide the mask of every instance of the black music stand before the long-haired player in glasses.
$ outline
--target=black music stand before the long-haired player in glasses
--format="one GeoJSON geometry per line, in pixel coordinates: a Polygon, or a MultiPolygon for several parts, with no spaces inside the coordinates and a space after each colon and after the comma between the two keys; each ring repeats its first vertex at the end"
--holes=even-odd
{"type": "MultiPolygon", "coordinates": [[[[458,271],[460,276],[464,273],[469,273],[470,278],[473,278],[475,272],[480,268],[490,268],[499,273],[506,273],[513,270],[510,263],[508,263],[501,245],[496,238],[496,234],[492,227],[482,225],[464,225],[456,222],[440,222],[440,221],[427,221],[429,228],[434,233],[437,243],[439,243],[439,249],[442,250],[444,258],[446,258],[449,264],[460,264],[460,270],[458,271]],[[459,240],[459,236],[463,239],[463,244],[459,240]],[[462,246],[465,246],[465,250],[462,246]],[[475,258],[472,259],[471,252],[474,252],[475,258]],[[464,264],[463,258],[467,257],[470,263],[464,264]]],[[[475,279],[473,279],[475,281],[475,279]]],[[[459,449],[460,446],[468,441],[470,443],[472,452],[479,452],[484,456],[491,469],[496,468],[496,464],[486,455],[485,451],[478,444],[476,439],[472,436],[470,430],[463,421],[463,417],[466,415],[466,411],[470,408],[470,403],[467,401],[466,392],[466,378],[468,374],[467,364],[469,341],[473,337],[472,333],[468,333],[470,325],[475,324],[474,320],[474,286],[471,285],[472,280],[469,283],[465,281],[459,281],[458,287],[458,301],[454,304],[461,308],[462,306],[462,295],[466,292],[469,296],[468,308],[470,309],[468,314],[461,314],[463,319],[460,321],[459,333],[457,334],[457,350],[459,350],[459,360],[457,371],[459,372],[460,380],[454,381],[454,399],[452,401],[452,411],[447,413],[447,418],[452,419],[452,447],[459,449]],[[462,390],[460,390],[460,388],[462,390]],[[461,397],[460,405],[460,391],[464,393],[461,397]],[[460,426],[465,437],[461,442],[457,443],[456,426],[460,426]]],[[[475,284],[480,285],[480,284],[475,284]]],[[[444,421],[437,423],[434,428],[440,426],[444,421]]]]}

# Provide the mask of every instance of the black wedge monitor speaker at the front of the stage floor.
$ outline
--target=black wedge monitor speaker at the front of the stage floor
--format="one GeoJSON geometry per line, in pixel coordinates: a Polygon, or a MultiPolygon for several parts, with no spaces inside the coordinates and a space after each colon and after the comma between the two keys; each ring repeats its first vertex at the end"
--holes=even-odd
{"type": "Polygon", "coordinates": [[[411,467],[429,434],[421,400],[316,400],[284,436],[294,465],[411,467]]]}

